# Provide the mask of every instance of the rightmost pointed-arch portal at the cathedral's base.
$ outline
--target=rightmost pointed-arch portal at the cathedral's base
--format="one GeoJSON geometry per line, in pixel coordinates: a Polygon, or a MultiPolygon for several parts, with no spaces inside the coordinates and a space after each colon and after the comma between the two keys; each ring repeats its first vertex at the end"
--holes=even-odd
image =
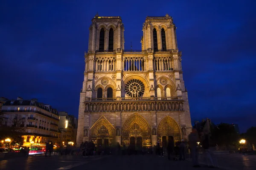
{"type": "Polygon", "coordinates": [[[168,142],[169,139],[174,139],[174,142],[180,141],[180,127],[175,119],[170,116],[164,117],[158,125],[157,136],[159,142],[168,142]]]}

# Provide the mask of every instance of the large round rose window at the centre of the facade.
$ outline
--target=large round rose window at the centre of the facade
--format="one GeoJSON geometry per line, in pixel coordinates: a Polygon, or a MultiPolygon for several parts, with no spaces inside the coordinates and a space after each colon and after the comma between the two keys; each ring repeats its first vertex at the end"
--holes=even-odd
{"type": "Polygon", "coordinates": [[[130,79],[125,85],[125,93],[130,97],[142,97],[145,85],[138,79],[130,79]]]}

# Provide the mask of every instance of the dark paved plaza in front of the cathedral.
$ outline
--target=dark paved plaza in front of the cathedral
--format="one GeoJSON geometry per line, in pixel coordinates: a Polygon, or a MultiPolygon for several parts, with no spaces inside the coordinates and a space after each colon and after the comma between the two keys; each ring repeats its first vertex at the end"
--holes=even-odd
{"type": "MultiPolygon", "coordinates": [[[[220,168],[216,170],[255,170],[256,156],[216,155],[220,168]],[[254,167],[253,167],[254,166],[254,167]]],[[[202,156],[201,156],[202,158],[202,156]]],[[[201,159],[201,167],[192,162],[169,161],[167,156],[29,156],[0,161],[0,170],[209,170],[201,159]]]]}

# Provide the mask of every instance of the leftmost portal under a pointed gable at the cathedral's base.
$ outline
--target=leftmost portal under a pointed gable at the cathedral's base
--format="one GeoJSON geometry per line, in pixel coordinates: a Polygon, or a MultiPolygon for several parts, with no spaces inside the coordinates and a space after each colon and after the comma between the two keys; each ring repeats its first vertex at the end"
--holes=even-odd
{"type": "Polygon", "coordinates": [[[110,143],[114,140],[115,128],[111,123],[102,115],[93,125],[90,127],[90,139],[96,143],[97,139],[108,139],[110,143]]]}

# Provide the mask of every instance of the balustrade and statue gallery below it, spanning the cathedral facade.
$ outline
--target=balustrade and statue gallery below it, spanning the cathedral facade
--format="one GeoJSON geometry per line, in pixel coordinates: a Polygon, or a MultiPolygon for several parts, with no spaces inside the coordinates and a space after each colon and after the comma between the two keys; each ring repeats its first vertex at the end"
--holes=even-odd
{"type": "Polygon", "coordinates": [[[96,98],[87,98],[84,102],[85,112],[184,110],[184,101],[182,100],[182,97],[178,96],[174,99],[172,99],[172,97],[110,98],[115,100],[95,99],[96,98]]]}

